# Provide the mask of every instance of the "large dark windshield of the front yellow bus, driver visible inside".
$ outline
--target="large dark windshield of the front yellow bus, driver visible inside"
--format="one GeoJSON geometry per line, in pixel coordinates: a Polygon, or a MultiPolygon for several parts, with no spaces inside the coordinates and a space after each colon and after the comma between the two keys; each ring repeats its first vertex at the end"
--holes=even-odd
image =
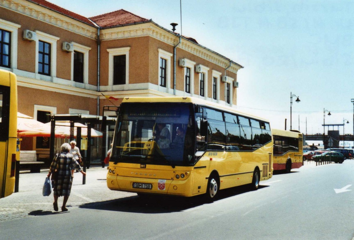
{"type": "Polygon", "coordinates": [[[190,166],[193,136],[192,104],[122,103],[110,161],[190,166]]]}

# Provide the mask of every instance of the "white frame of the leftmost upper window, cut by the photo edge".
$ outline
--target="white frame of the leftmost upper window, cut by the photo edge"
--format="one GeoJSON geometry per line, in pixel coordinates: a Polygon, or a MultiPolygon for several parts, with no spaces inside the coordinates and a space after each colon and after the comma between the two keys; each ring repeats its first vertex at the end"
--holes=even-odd
{"type": "MultiPolygon", "coordinates": [[[[21,25],[6,21],[0,18],[0,28],[11,32],[11,45],[10,45],[10,68],[17,69],[17,39],[18,39],[18,29],[21,25]]],[[[2,69],[8,70],[7,67],[1,67],[2,69]]]]}

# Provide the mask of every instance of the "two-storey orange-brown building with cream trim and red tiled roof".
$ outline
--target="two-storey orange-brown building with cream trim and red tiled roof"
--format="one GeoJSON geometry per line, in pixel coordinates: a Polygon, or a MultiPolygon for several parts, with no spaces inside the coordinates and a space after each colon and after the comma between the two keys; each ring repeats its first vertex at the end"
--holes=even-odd
{"type": "MultiPolygon", "coordinates": [[[[41,122],[101,115],[125,96],[237,104],[241,65],[125,10],[86,18],[44,0],[0,0],[0,47],[0,68],[17,75],[18,111],[41,122]]],[[[23,147],[45,150],[40,141],[23,147]]]]}

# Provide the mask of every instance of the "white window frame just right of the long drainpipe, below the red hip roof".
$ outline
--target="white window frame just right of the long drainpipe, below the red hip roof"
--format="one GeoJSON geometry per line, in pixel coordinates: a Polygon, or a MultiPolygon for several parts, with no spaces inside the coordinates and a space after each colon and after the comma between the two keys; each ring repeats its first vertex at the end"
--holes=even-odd
{"type": "Polygon", "coordinates": [[[130,47],[125,48],[110,48],[107,49],[108,52],[108,85],[112,86],[113,90],[118,90],[119,88],[115,89],[115,87],[124,86],[129,84],[129,50],[130,47]],[[113,85],[113,57],[125,55],[125,84],[122,85],[113,85]]]}

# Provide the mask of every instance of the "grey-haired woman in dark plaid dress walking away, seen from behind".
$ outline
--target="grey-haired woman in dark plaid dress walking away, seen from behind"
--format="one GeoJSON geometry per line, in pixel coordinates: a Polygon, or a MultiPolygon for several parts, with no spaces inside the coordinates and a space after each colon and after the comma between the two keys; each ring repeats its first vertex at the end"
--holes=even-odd
{"type": "Polygon", "coordinates": [[[48,173],[48,178],[53,171],[56,171],[57,174],[57,179],[54,180],[53,184],[53,207],[55,211],[58,211],[58,197],[60,196],[64,196],[62,211],[68,211],[65,206],[70,195],[73,181],[71,168],[75,168],[80,171],[82,175],[86,175],[86,173],[81,170],[79,163],[74,159],[73,155],[70,154],[69,151],[70,145],[68,143],[64,143],[61,146],[61,152],[53,159],[48,173]]]}

